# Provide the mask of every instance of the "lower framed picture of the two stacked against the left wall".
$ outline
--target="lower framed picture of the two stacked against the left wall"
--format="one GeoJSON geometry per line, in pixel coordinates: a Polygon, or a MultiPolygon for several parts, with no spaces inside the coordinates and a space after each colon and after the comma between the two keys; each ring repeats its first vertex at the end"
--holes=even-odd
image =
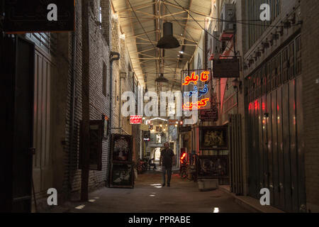
{"type": "Polygon", "coordinates": [[[133,188],[133,165],[125,163],[113,163],[111,165],[110,187],[133,188]]]}

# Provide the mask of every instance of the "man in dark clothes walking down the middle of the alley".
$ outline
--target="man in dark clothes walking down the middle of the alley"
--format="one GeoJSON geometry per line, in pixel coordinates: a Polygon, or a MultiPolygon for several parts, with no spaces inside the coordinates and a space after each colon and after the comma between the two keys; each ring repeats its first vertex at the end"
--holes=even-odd
{"type": "Polygon", "coordinates": [[[175,165],[175,155],[172,149],[169,148],[169,143],[164,143],[164,150],[161,151],[161,156],[159,157],[159,166],[162,166],[163,183],[162,187],[165,186],[165,175],[167,172],[167,187],[170,186],[172,177],[172,165],[175,165]]]}

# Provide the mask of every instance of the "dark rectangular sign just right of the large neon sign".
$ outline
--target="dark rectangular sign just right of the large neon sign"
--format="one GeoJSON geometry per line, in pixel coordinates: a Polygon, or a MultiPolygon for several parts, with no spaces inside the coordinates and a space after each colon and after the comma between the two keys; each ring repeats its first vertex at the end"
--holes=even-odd
{"type": "Polygon", "coordinates": [[[240,60],[238,57],[213,60],[214,78],[240,77],[240,60]]]}

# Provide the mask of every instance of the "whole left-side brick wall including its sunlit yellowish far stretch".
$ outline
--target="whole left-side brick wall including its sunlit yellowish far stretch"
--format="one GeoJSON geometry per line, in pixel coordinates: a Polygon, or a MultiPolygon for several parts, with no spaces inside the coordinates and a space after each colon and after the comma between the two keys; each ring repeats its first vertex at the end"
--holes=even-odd
{"type": "MultiPolygon", "coordinates": [[[[120,116],[121,93],[130,91],[129,84],[132,78],[128,77],[130,65],[130,56],[125,46],[125,40],[119,38],[120,25],[118,19],[111,16],[111,5],[109,1],[101,1],[102,23],[99,25],[100,4],[97,1],[91,1],[89,13],[89,42],[90,42],[90,72],[89,72],[89,101],[90,101],[90,119],[99,120],[102,114],[112,116],[111,128],[120,128],[125,125],[125,131],[132,133],[131,126],[126,119],[120,116]],[[110,47],[111,45],[111,47],[110,47]],[[119,52],[121,58],[113,62],[111,72],[110,52],[119,52]],[[107,75],[103,75],[103,65],[106,65],[107,75]],[[120,80],[120,73],[127,74],[126,79],[120,80]],[[111,73],[113,74],[111,80],[111,73]],[[106,96],[102,92],[103,77],[106,76],[106,96]],[[121,82],[121,91],[120,91],[121,82]],[[112,86],[112,94],[111,94],[112,86]],[[112,101],[112,108],[110,104],[112,101]],[[120,122],[119,119],[123,120],[120,122]]],[[[67,199],[78,199],[81,192],[81,170],[78,170],[79,161],[79,123],[82,120],[82,18],[81,18],[81,1],[76,4],[76,36],[77,51],[75,72],[77,77],[75,88],[74,104],[74,137],[73,145],[71,140],[66,140],[65,145],[65,176],[64,192],[67,199]],[[68,194],[69,193],[69,194],[68,194]]],[[[71,132],[70,116],[72,113],[72,38],[69,38],[69,79],[67,83],[67,114],[66,114],[66,135],[69,138],[71,132]]],[[[112,130],[111,133],[123,133],[118,130],[112,130]]],[[[109,164],[109,142],[103,140],[102,144],[102,171],[90,171],[89,191],[104,187],[108,182],[108,164],[109,164]]]]}

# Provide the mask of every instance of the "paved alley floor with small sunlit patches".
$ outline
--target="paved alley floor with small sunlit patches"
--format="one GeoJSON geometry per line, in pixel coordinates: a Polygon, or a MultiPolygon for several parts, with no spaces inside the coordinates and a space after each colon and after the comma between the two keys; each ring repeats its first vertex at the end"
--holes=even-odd
{"type": "Polygon", "coordinates": [[[237,204],[233,197],[220,189],[199,192],[198,185],[173,174],[171,187],[161,187],[159,172],[138,175],[134,189],[103,188],[89,195],[91,202],[73,202],[82,209],[70,212],[111,213],[211,213],[218,207],[220,213],[250,212],[237,204]],[[85,205],[85,206],[81,206],[85,205]]]}

